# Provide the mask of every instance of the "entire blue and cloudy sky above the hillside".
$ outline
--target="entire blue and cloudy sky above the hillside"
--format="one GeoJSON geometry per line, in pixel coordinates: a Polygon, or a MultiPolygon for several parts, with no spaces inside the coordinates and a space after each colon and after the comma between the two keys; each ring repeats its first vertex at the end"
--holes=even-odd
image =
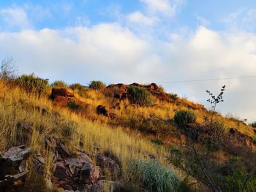
{"type": "Polygon", "coordinates": [[[255,0],[0,0],[0,60],[19,74],[80,82],[157,82],[217,110],[256,120],[255,0]]]}

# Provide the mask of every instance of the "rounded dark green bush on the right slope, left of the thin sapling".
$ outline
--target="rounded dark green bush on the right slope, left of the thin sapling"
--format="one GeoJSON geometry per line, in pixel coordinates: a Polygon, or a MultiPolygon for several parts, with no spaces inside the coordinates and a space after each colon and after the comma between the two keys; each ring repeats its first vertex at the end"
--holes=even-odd
{"type": "Polygon", "coordinates": [[[180,110],[174,115],[174,123],[178,128],[187,128],[188,123],[194,123],[196,120],[195,113],[190,110],[180,110]]]}

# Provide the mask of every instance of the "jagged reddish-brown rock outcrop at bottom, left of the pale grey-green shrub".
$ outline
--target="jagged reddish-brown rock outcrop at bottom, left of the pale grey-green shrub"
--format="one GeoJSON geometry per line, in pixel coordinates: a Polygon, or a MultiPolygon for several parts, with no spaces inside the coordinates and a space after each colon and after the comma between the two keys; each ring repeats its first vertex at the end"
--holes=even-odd
{"type": "MultiPolygon", "coordinates": [[[[120,168],[116,161],[97,154],[97,164],[93,164],[88,153],[72,153],[56,139],[47,139],[47,145],[56,148],[56,161],[53,166],[53,183],[67,191],[101,191],[105,189],[105,171],[110,170],[117,179],[120,168]],[[100,158],[99,158],[100,157],[100,158]],[[104,185],[103,185],[104,184],[104,185]]],[[[113,181],[111,182],[114,183],[113,181]]],[[[112,185],[111,184],[111,185],[112,185]]]]}

